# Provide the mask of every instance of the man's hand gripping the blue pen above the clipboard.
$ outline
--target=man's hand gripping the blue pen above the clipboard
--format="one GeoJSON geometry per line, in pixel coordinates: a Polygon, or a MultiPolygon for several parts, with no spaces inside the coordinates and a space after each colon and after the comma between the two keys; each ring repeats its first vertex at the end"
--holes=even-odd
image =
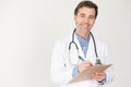
{"type": "Polygon", "coordinates": [[[84,70],[86,70],[87,67],[92,66],[93,64],[90,61],[83,61],[82,63],[80,63],[79,65],[79,73],[82,73],[84,70]]]}

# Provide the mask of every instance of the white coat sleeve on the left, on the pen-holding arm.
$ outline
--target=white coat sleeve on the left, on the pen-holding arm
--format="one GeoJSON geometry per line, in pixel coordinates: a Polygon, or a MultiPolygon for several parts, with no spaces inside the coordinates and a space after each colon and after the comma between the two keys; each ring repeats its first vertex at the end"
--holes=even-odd
{"type": "Polygon", "coordinates": [[[51,78],[57,85],[64,85],[72,78],[73,67],[66,69],[64,48],[61,42],[57,42],[51,57],[51,78]]]}

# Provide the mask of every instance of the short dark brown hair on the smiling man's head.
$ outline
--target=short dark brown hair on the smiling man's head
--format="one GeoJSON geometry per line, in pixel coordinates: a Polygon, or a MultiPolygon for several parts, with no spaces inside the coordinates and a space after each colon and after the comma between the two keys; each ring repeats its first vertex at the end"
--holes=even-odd
{"type": "Polygon", "coordinates": [[[78,7],[76,7],[75,10],[74,10],[74,15],[78,15],[79,9],[81,9],[81,8],[83,8],[83,7],[95,9],[95,17],[97,17],[98,7],[97,7],[97,4],[95,4],[94,2],[88,1],[88,0],[81,1],[81,2],[78,4],[78,7]]]}

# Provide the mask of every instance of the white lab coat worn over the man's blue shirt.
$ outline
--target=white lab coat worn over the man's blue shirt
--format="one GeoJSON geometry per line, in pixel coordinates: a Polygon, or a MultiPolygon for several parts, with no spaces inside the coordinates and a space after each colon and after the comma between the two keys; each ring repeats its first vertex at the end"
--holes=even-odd
{"type": "MultiPolygon", "coordinates": [[[[51,57],[51,78],[55,84],[57,84],[58,87],[99,87],[99,85],[95,79],[74,83],[71,85],[68,85],[70,79],[72,78],[72,70],[74,65],[78,63],[78,52],[74,45],[71,46],[71,51],[69,54],[69,44],[72,40],[72,33],[63,38],[62,40],[59,40],[55,44],[53,50],[52,50],[52,57],[51,57]]],[[[78,38],[74,35],[74,41],[79,46],[79,52],[82,58],[84,58],[84,53],[81,49],[81,46],[79,44],[78,38]]],[[[112,64],[108,51],[107,51],[107,45],[97,40],[96,41],[96,48],[98,58],[100,59],[102,63],[104,64],[112,64]]],[[[86,60],[91,61],[93,64],[96,62],[96,55],[94,51],[94,44],[93,39],[91,37],[86,60]]],[[[79,61],[81,63],[81,61],[79,61]]],[[[111,82],[114,78],[114,70],[112,66],[106,70],[106,83],[111,82]]]]}

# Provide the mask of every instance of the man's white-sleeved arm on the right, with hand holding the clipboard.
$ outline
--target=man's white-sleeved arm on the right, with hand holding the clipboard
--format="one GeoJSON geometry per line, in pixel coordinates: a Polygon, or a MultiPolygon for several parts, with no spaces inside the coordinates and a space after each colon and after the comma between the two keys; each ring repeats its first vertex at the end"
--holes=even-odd
{"type": "MultiPolygon", "coordinates": [[[[103,48],[100,48],[100,60],[104,64],[112,64],[112,60],[110,59],[107,50],[107,45],[105,44],[103,48]]],[[[97,72],[93,75],[93,78],[98,82],[99,85],[107,84],[114,79],[114,67],[112,65],[107,69],[105,72],[97,72]]]]}

